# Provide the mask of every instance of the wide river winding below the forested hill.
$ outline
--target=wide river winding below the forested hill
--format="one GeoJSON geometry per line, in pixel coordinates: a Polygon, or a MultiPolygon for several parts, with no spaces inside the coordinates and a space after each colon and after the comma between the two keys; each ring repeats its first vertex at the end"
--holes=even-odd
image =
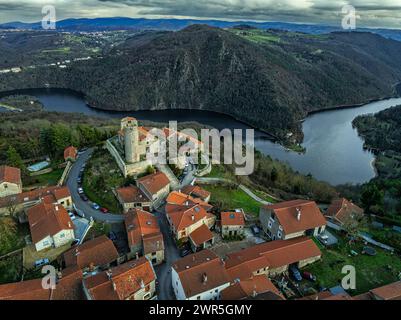
{"type": "MultiPolygon", "coordinates": [[[[87,115],[118,117],[130,115],[142,120],[167,122],[169,120],[198,121],[217,129],[248,129],[249,126],[228,115],[201,110],[162,110],[111,112],[90,108],[82,96],[69,90],[29,89],[14,91],[36,96],[49,111],[82,112],[87,115]]],[[[4,95],[4,94],[2,94],[4,95]]],[[[363,140],[352,128],[358,115],[375,113],[400,105],[401,98],[387,99],[361,107],[337,109],[312,114],[303,122],[304,154],[288,151],[255,131],[255,147],[272,158],[287,162],[294,170],[312,174],[318,180],[332,185],[363,183],[375,176],[374,155],[363,149],[363,140]]]]}

